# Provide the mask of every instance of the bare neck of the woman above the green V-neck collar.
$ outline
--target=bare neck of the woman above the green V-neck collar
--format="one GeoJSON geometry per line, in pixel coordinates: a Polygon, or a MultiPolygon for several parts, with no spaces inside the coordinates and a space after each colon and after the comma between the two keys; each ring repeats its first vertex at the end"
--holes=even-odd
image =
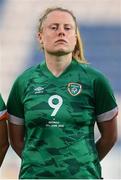
{"type": "Polygon", "coordinates": [[[54,76],[58,77],[70,65],[72,61],[72,54],[63,56],[45,54],[45,59],[48,69],[54,76]]]}

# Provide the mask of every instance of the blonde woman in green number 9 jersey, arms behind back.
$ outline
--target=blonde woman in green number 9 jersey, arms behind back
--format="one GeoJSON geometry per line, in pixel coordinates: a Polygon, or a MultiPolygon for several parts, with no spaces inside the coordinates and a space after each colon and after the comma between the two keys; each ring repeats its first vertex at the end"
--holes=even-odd
{"type": "Polygon", "coordinates": [[[20,179],[100,179],[99,161],[117,135],[111,87],[84,61],[70,11],[47,10],[38,37],[45,63],[18,77],[8,99],[11,145],[22,158],[20,179]],[[96,143],[95,123],[101,134],[96,143]]]}

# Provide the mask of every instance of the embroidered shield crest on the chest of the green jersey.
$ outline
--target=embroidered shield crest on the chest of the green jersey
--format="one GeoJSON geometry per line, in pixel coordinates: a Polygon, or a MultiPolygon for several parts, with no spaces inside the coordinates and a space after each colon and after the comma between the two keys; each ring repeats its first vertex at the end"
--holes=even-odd
{"type": "Polygon", "coordinates": [[[79,83],[69,83],[68,84],[68,92],[72,96],[77,96],[78,94],[80,94],[81,90],[82,90],[82,86],[79,83]]]}

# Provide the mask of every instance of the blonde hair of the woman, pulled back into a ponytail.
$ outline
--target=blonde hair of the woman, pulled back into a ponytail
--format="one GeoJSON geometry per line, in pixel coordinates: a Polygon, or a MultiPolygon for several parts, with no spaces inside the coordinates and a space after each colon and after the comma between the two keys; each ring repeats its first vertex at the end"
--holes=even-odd
{"type": "Polygon", "coordinates": [[[76,34],[77,34],[77,42],[74,48],[74,51],[72,52],[72,57],[78,61],[79,63],[87,63],[85,57],[84,57],[84,50],[83,50],[83,43],[82,43],[82,39],[80,36],[80,32],[77,26],[77,21],[76,21],[76,17],[73,15],[73,13],[68,10],[68,9],[64,9],[61,7],[55,7],[55,8],[47,8],[44,12],[44,14],[42,15],[42,17],[39,19],[39,25],[38,25],[38,32],[42,32],[43,29],[43,22],[45,21],[45,19],[47,18],[47,15],[53,11],[62,11],[62,12],[67,12],[69,13],[74,22],[75,22],[75,27],[76,27],[76,34]]]}

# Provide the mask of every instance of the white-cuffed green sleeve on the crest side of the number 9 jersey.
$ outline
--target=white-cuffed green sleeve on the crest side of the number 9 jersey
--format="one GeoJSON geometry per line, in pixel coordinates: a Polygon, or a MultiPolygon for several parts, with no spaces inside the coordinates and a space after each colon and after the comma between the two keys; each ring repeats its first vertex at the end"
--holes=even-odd
{"type": "Polygon", "coordinates": [[[104,75],[99,74],[94,82],[95,111],[97,121],[107,121],[118,113],[116,99],[109,81],[104,75]]]}

